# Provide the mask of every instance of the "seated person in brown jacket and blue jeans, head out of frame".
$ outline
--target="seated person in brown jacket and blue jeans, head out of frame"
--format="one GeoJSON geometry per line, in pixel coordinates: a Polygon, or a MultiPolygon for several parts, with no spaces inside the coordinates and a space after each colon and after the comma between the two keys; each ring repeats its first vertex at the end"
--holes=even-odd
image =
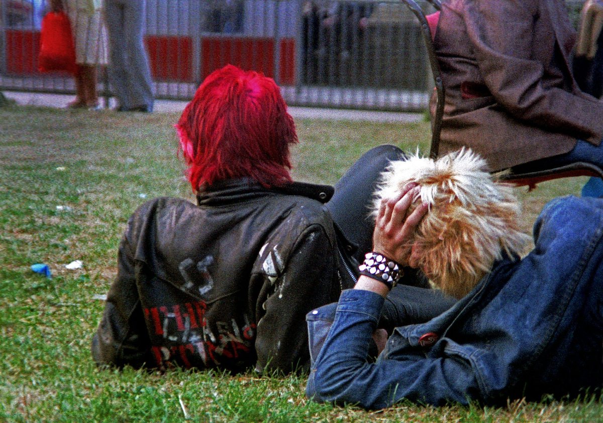
{"type": "Polygon", "coordinates": [[[446,90],[440,155],[491,171],[543,159],[603,166],[603,101],[578,87],[563,0],[447,0],[434,46],[446,90]]]}

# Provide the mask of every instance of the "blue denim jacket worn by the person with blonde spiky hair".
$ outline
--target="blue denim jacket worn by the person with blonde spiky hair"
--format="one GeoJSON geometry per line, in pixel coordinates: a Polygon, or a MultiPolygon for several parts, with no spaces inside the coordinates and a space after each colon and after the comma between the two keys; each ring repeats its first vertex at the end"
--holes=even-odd
{"type": "Polygon", "coordinates": [[[329,306],[306,317],[306,395],[379,409],[403,398],[495,404],[603,386],[602,234],[600,199],[549,202],[532,252],[496,263],[440,316],[396,328],[376,363],[367,351],[384,299],[344,291],[334,321],[329,306]]]}

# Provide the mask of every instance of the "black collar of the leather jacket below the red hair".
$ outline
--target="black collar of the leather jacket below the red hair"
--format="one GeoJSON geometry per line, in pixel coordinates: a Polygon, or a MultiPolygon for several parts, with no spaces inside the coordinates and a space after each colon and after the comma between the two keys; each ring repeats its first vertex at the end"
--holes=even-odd
{"type": "Polygon", "coordinates": [[[213,183],[197,193],[198,205],[216,205],[253,199],[270,194],[299,195],[326,203],[335,189],[330,185],[291,182],[282,187],[265,188],[251,178],[238,178],[213,183]]]}

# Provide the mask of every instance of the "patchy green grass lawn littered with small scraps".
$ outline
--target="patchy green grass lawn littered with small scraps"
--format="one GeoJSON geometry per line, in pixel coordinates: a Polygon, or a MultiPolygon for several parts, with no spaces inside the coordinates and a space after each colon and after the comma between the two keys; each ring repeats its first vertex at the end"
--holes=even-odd
{"type": "MultiPolygon", "coordinates": [[[[305,377],[99,371],[89,345],[116,273],[119,239],[144,198],[192,199],[176,156],[175,114],[0,108],[0,421],[603,421],[594,400],[513,401],[500,409],[403,403],[385,412],[308,401],[305,377]],[[81,260],[83,268],[65,265],[81,260]],[[46,263],[52,279],[30,270],[46,263]]],[[[298,121],[295,178],[335,183],[380,143],[426,151],[429,124],[298,121]]],[[[526,230],[548,199],[525,198],[526,230]]],[[[525,190],[524,190],[525,191],[525,190]]]]}

